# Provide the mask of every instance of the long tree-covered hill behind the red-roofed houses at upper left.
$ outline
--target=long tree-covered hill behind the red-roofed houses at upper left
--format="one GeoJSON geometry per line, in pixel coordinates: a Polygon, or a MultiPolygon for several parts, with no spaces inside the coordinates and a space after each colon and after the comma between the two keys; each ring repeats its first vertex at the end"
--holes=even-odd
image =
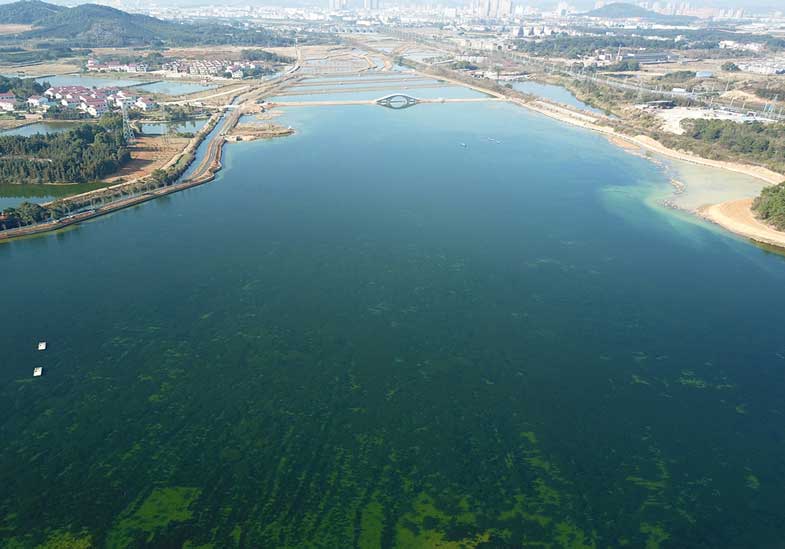
{"type": "Polygon", "coordinates": [[[190,46],[238,44],[258,46],[288,45],[291,39],[266,29],[247,29],[219,23],[175,23],[155,17],[131,14],[97,4],[61,8],[39,0],[0,6],[0,24],[18,22],[23,14],[32,30],[4,36],[4,41],[46,39],[67,41],[70,46],[190,46]],[[49,9],[51,8],[51,10],[49,9]],[[38,14],[31,19],[30,14],[38,14]]]}

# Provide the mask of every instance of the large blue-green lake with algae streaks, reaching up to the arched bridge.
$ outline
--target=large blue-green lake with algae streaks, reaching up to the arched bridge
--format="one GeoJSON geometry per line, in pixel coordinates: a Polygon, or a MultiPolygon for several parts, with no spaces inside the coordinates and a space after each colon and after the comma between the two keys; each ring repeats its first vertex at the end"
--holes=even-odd
{"type": "Polygon", "coordinates": [[[782,257],[509,104],[283,123],[0,246],[6,545],[785,538],[782,257]]]}

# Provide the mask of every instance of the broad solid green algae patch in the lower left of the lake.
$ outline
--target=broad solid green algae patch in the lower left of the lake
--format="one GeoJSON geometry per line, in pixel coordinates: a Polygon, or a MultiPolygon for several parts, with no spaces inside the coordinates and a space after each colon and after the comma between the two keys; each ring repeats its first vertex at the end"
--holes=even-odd
{"type": "Polygon", "coordinates": [[[190,507],[200,492],[199,488],[184,486],[154,489],[141,505],[137,507],[134,502],[123,511],[109,532],[107,547],[126,547],[140,534],[149,543],[170,524],[190,520],[190,507]]]}

